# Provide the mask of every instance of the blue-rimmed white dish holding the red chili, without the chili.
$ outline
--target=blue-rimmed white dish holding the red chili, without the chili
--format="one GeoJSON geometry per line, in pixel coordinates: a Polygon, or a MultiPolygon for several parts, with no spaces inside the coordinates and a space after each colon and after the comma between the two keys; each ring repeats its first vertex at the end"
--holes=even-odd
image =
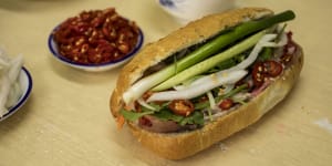
{"type": "MultiPolygon", "coordinates": [[[[54,30],[56,30],[56,28],[54,30]]],[[[76,62],[69,60],[59,53],[56,43],[53,40],[54,30],[51,32],[51,34],[49,37],[49,49],[52,52],[53,56],[65,65],[69,65],[69,66],[75,68],[75,69],[80,69],[83,71],[89,71],[89,72],[107,71],[107,70],[123,65],[138,52],[138,50],[142,48],[143,41],[144,41],[144,34],[143,34],[142,30],[139,29],[138,41],[137,41],[136,46],[133,49],[132,52],[129,52],[124,58],[122,58],[117,61],[112,61],[112,62],[102,63],[102,64],[81,64],[81,63],[76,63],[76,62]]]]}

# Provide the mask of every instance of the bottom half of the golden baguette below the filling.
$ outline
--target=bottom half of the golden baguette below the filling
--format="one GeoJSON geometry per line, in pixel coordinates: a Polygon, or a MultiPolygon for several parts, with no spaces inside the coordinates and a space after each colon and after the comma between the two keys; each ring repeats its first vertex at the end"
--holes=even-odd
{"type": "Polygon", "coordinates": [[[206,124],[203,128],[185,133],[152,133],[129,123],[133,135],[155,154],[168,159],[191,156],[257,122],[291,91],[298,80],[303,52],[299,48],[292,65],[262,93],[229,114],[206,124]]]}

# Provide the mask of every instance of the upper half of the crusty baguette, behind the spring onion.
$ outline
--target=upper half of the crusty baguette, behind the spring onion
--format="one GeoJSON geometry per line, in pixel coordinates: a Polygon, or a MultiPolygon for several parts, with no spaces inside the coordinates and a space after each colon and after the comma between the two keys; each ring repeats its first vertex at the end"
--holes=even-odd
{"type": "Polygon", "coordinates": [[[165,60],[175,52],[200,43],[220,31],[235,27],[246,20],[259,19],[272,14],[264,8],[243,8],[224,13],[207,15],[188,23],[167,37],[145,45],[137,55],[121,71],[113,91],[110,106],[113,116],[123,107],[123,93],[137,81],[145,70],[165,60]]]}

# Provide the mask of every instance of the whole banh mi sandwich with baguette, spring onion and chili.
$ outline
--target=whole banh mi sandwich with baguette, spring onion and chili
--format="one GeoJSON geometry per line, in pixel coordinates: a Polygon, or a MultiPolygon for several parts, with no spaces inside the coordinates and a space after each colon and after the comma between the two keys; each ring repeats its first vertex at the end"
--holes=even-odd
{"type": "Polygon", "coordinates": [[[204,17],[145,48],[120,73],[110,106],[118,127],[162,157],[194,155],[257,122],[299,77],[302,49],[287,10],[204,17]]]}

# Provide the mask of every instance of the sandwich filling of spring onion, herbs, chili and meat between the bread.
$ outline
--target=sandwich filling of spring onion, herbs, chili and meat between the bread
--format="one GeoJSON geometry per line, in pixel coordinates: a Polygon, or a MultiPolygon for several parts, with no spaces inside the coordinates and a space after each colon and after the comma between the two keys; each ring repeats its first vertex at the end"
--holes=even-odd
{"type": "Polygon", "coordinates": [[[291,64],[297,44],[280,23],[293,18],[286,11],[248,21],[149,68],[124,93],[120,126],[129,121],[157,133],[193,131],[246,105],[291,64]],[[228,35],[234,41],[224,42],[228,35]]]}

